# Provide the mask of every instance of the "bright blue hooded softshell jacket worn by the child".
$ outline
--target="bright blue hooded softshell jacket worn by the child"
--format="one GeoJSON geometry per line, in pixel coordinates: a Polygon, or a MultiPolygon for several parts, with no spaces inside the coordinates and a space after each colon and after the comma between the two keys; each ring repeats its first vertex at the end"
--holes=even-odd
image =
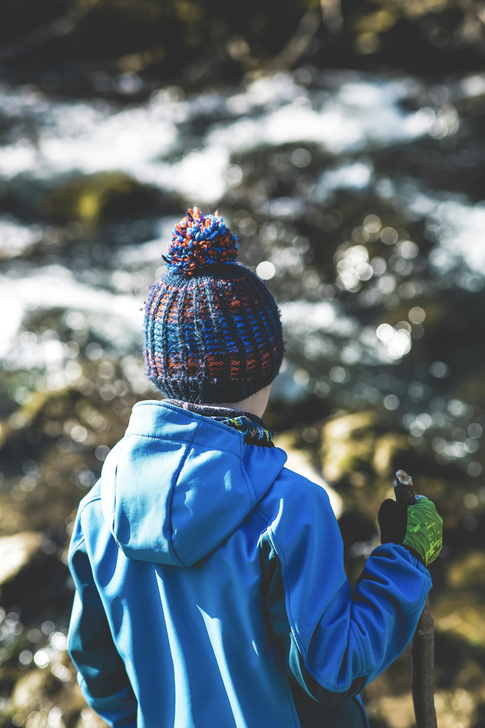
{"type": "Polygon", "coordinates": [[[430,574],[374,549],[352,589],[324,488],[210,417],[135,405],[76,516],[68,650],[113,728],[366,726],[430,574]]]}

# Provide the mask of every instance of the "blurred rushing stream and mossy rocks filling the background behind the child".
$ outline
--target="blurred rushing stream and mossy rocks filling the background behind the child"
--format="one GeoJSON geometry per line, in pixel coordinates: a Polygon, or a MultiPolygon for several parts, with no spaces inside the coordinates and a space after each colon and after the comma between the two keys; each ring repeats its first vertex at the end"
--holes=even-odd
{"type": "MultiPolygon", "coordinates": [[[[94,728],[65,652],[76,506],[124,434],[172,225],[275,293],[267,422],[356,579],[393,473],[444,516],[440,727],[485,726],[485,5],[3,0],[0,726],[94,728]]],[[[409,651],[364,692],[411,728],[409,651]]]]}

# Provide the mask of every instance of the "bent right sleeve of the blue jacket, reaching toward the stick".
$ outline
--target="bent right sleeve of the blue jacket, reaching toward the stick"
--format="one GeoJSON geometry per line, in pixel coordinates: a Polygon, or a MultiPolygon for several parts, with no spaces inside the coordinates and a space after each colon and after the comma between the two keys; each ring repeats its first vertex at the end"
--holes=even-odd
{"type": "Polygon", "coordinates": [[[431,579],[403,546],[386,544],[373,550],[352,589],[328,496],[301,480],[300,502],[288,508],[282,500],[276,519],[265,516],[266,604],[286,671],[319,703],[334,705],[404,651],[431,579]]]}

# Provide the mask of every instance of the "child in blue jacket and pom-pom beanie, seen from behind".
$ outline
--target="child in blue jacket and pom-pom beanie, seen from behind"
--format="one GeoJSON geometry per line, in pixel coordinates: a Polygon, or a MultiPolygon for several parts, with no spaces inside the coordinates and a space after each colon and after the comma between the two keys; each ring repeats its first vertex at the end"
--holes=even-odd
{"type": "Polygon", "coordinates": [[[412,638],[441,518],[424,496],[386,502],[350,587],[326,491],[261,419],[280,312],[236,256],[217,212],[175,226],[145,310],[165,399],[135,405],[79,505],[68,650],[113,728],[364,727],[359,694],[412,638]]]}

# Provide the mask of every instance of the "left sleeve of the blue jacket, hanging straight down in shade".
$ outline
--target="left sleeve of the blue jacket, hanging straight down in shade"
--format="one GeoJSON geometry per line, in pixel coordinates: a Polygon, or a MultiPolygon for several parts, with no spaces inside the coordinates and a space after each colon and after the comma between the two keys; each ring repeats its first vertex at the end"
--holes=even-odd
{"type": "MultiPolygon", "coordinates": [[[[79,521],[76,522],[79,529],[79,521]]],[[[76,593],[68,630],[68,652],[84,699],[111,728],[136,728],[137,700],[113,643],[79,530],[69,547],[76,593]]]]}

